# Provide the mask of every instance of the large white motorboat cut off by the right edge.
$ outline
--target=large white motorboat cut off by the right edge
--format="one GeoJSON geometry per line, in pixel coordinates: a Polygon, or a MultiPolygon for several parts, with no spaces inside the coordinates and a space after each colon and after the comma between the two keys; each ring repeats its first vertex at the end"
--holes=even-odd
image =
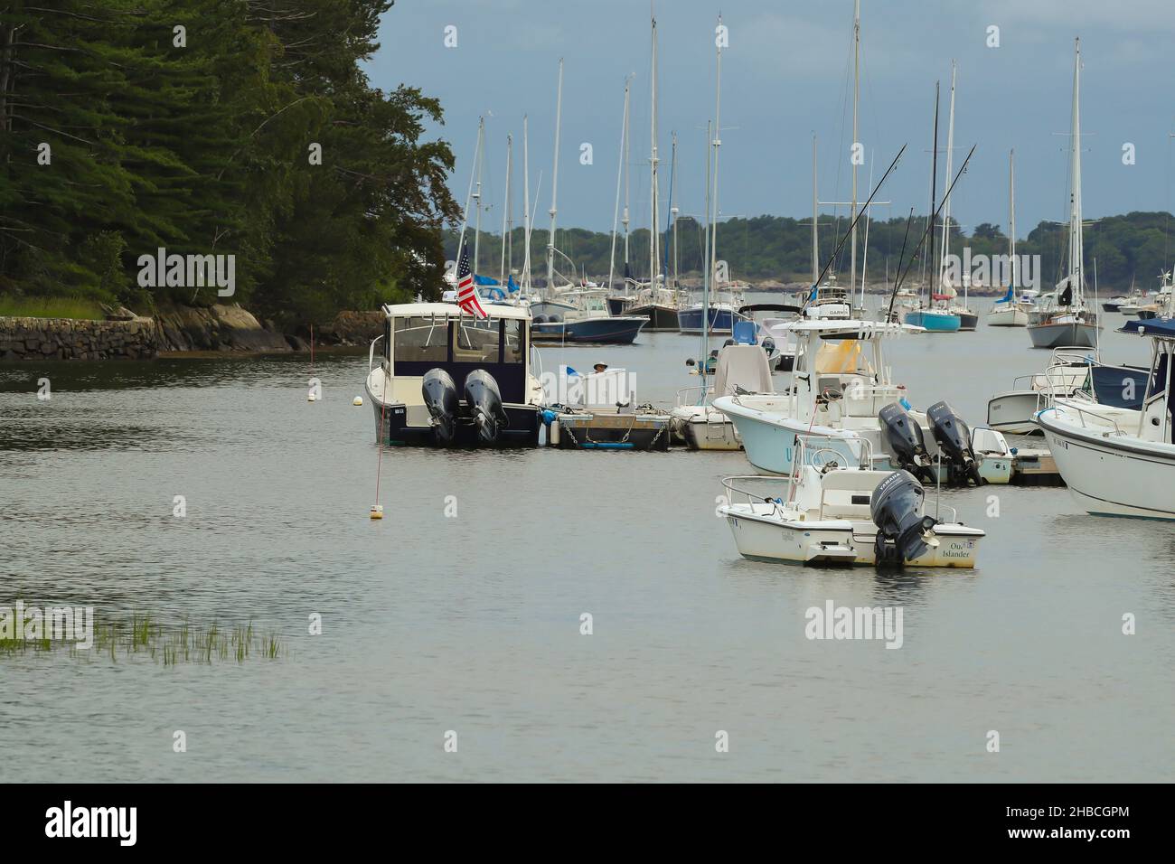
{"type": "Polygon", "coordinates": [[[1036,423],[1086,513],[1175,520],[1175,321],[1135,320],[1119,331],[1150,339],[1142,409],[1115,417],[1095,404],[1059,400],[1036,415],[1036,423]]]}

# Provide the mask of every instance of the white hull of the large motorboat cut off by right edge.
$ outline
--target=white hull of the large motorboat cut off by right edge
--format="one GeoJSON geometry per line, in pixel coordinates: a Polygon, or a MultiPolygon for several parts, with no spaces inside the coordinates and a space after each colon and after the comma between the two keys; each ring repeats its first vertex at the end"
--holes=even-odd
{"type": "Polygon", "coordinates": [[[1102,435],[1058,409],[1041,411],[1036,422],[1086,513],[1175,520],[1175,444],[1102,435]]]}

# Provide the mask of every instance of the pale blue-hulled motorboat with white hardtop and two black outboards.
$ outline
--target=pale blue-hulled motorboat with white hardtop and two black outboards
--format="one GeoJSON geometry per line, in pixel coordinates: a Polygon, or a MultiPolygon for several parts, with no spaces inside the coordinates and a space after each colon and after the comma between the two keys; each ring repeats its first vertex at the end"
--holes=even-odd
{"type": "MultiPolygon", "coordinates": [[[[772,474],[792,470],[795,435],[868,438],[882,467],[913,469],[947,483],[1007,483],[1010,466],[974,453],[969,428],[945,402],[914,411],[891,379],[882,343],[918,328],[848,317],[850,304],[810,304],[797,321],[767,322],[797,340],[792,386],[783,394],[736,394],[713,401],[743,440],[747,461],[772,474]]],[[[848,444],[846,444],[846,448],[848,444]]],[[[845,457],[851,451],[845,450],[845,457]]]]}

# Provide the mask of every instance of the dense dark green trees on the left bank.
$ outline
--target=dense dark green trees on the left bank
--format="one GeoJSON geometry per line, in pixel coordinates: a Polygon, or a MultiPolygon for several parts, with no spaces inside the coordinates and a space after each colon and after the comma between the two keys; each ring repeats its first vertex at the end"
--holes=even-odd
{"type": "Polygon", "coordinates": [[[436,293],[457,214],[449,147],[423,140],[441,107],[360,69],[390,7],[5,4],[0,294],[217,301],[213,288],[145,296],[137,260],[159,247],[235,255],[233,299],[287,326],[436,293]]]}

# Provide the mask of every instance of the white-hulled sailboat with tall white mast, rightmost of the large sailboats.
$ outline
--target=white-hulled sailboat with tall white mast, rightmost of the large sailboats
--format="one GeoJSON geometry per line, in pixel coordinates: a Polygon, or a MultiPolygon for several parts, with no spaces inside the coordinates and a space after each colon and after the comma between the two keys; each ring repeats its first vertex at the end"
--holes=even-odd
{"type": "Polygon", "coordinates": [[[1097,315],[1086,306],[1085,261],[1081,233],[1081,40],[1075,40],[1073,62],[1073,129],[1069,135],[1073,169],[1069,192],[1068,273],[1056,294],[1028,322],[1033,348],[1093,348],[1097,344],[1097,315]]]}

